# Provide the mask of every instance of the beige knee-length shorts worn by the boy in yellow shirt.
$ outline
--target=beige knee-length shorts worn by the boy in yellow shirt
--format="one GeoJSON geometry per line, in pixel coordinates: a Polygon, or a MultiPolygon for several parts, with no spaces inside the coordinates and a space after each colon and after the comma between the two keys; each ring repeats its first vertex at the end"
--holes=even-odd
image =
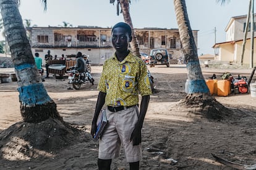
{"type": "Polygon", "coordinates": [[[139,108],[136,106],[111,112],[106,109],[108,126],[100,139],[98,158],[109,160],[120,155],[121,145],[124,148],[126,161],[134,163],[142,158],[142,146],[134,146],[130,136],[139,118],[139,108]]]}

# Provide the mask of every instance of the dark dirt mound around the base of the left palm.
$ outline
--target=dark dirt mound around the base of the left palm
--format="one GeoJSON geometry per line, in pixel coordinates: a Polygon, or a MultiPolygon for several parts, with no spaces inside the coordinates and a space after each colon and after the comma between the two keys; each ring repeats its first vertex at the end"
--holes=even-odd
{"type": "Polygon", "coordinates": [[[41,123],[18,122],[0,134],[2,156],[10,160],[50,156],[61,148],[87,140],[85,132],[58,119],[41,123]]]}

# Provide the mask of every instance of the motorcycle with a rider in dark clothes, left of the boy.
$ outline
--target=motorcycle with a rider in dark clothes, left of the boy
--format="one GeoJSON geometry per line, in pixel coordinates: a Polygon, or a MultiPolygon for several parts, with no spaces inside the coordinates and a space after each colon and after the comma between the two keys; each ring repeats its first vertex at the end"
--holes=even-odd
{"type": "Polygon", "coordinates": [[[75,70],[74,67],[70,67],[70,71],[67,71],[69,73],[69,84],[72,84],[74,89],[79,90],[81,87],[81,84],[87,84],[88,81],[94,84],[94,79],[92,75],[85,71],[83,73],[79,73],[79,71],[75,70]]]}

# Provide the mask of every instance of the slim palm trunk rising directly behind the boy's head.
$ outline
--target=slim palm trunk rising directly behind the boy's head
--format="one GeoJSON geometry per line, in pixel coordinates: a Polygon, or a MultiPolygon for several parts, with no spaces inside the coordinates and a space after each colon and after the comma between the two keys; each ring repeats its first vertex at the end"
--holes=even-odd
{"type": "MultiPolygon", "coordinates": [[[[109,2],[111,4],[114,4],[115,1],[116,0],[110,0],[109,2]]],[[[117,15],[119,15],[119,6],[121,6],[121,12],[124,17],[124,22],[128,23],[132,28],[132,42],[130,42],[132,53],[139,57],[140,56],[139,43],[134,31],[134,26],[132,25],[132,18],[130,17],[130,12],[129,12],[129,4],[130,4],[130,0],[117,0],[117,3],[116,3],[117,15]]]]}

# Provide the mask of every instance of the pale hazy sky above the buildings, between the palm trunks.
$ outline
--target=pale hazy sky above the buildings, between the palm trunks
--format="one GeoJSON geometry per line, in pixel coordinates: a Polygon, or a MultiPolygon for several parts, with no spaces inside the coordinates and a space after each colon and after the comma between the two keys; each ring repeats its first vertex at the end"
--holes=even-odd
{"type": "MultiPolygon", "coordinates": [[[[215,39],[216,43],[225,41],[229,20],[247,15],[249,0],[231,0],[224,5],[216,0],[186,0],[186,5],[190,26],[198,30],[198,55],[202,55],[214,54],[215,39]]],[[[116,15],[116,4],[109,4],[109,0],[48,0],[46,12],[40,0],[21,0],[19,10],[23,20],[37,26],[67,22],[74,27],[108,28],[124,21],[122,14],[116,15]]],[[[177,28],[173,0],[132,0],[130,15],[134,28],[177,28]]]]}

